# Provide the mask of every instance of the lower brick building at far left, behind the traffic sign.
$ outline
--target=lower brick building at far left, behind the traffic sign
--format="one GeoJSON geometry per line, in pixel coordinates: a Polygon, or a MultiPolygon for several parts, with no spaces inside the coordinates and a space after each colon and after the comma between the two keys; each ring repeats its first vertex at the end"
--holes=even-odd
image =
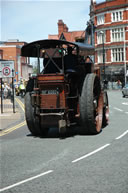
{"type": "Polygon", "coordinates": [[[21,47],[25,44],[26,42],[20,42],[19,40],[0,42],[0,59],[14,60],[16,82],[21,78],[28,79],[29,73],[32,73],[32,66],[29,63],[29,59],[20,56],[21,47]]]}

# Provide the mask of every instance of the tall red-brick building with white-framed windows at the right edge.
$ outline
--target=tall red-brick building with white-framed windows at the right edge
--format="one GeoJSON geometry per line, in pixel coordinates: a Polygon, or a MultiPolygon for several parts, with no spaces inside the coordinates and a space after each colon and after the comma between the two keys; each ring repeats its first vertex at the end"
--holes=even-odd
{"type": "Polygon", "coordinates": [[[128,82],[128,0],[91,0],[95,28],[95,65],[110,82],[128,82]]]}

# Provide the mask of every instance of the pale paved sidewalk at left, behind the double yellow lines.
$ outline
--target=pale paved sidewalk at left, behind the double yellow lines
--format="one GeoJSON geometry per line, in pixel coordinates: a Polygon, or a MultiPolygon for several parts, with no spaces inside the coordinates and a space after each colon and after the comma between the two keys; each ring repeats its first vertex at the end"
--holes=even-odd
{"type": "Polygon", "coordinates": [[[0,131],[12,127],[24,120],[23,111],[15,101],[15,113],[13,113],[13,103],[10,99],[3,100],[3,113],[1,113],[0,98],[0,131]]]}

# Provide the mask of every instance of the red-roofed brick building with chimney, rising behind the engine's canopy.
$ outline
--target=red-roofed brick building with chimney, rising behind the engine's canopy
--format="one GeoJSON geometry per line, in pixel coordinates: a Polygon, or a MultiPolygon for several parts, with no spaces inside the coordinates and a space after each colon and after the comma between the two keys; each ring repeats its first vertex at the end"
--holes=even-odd
{"type": "Polygon", "coordinates": [[[83,31],[69,31],[67,25],[63,20],[58,20],[58,34],[48,35],[48,39],[60,39],[70,42],[84,41],[85,30],[83,31]]]}

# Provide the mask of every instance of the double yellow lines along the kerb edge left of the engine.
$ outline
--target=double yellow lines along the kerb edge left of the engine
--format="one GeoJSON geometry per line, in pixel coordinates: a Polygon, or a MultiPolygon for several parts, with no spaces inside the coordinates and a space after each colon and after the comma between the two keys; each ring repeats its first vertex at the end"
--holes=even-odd
{"type": "MultiPolygon", "coordinates": [[[[24,104],[18,98],[16,98],[16,101],[20,105],[22,110],[25,111],[24,110],[24,104]]],[[[26,121],[23,121],[22,123],[19,123],[18,125],[15,125],[9,129],[4,129],[3,131],[0,131],[0,136],[7,135],[8,133],[10,133],[10,132],[12,132],[12,131],[24,126],[24,125],[26,125],[26,121]]]]}

